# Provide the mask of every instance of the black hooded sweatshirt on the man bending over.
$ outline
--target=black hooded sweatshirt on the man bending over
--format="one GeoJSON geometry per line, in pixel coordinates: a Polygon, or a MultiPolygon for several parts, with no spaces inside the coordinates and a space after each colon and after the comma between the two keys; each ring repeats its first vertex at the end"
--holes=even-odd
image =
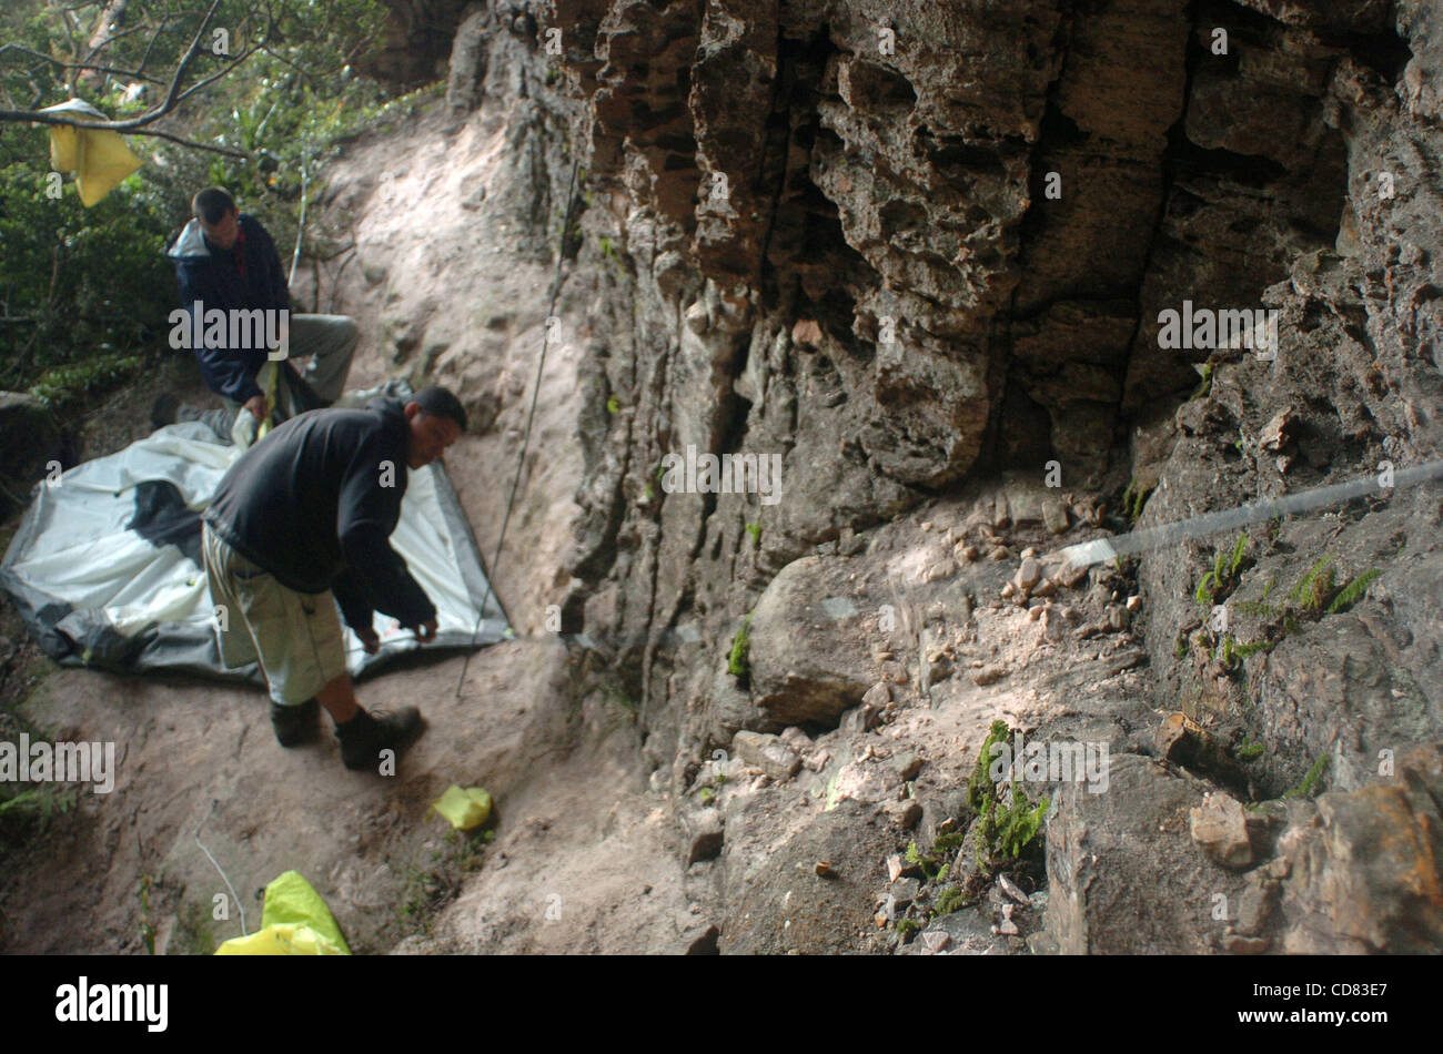
{"type": "Polygon", "coordinates": [[[290,418],[231,466],[205,522],[281,585],[330,590],[352,629],[369,629],[372,611],[407,629],[434,619],[388,541],[407,484],[403,407],[378,398],[290,418]]]}

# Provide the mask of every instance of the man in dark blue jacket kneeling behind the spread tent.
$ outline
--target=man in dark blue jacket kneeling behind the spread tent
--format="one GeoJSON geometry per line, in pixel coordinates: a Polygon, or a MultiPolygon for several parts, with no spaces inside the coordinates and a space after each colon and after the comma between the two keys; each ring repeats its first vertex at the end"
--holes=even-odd
{"type": "Polygon", "coordinates": [[[156,427],[176,420],[203,420],[229,438],[244,408],[266,420],[267,399],[257,375],[267,360],[283,376],[284,358],[310,355],[304,388],[277,392],[276,417],[329,405],[339,398],[351,371],[359,330],[341,314],[291,314],[290,290],[276,242],[260,221],[237,211],[231,196],[208,187],[190,202],[195,213],[166,248],[175,261],[180,309],[172,313],[173,347],[189,347],[206,386],[221,397],[219,411],[202,414],[172,395],[152,409],[156,427]]]}

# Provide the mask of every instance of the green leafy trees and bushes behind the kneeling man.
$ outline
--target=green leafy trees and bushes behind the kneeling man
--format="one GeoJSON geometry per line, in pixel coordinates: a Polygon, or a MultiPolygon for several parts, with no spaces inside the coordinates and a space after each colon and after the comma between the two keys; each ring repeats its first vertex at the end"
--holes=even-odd
{"type": "MultiPolygon", "coordinates": [[[[98,0],[48,4],[7,0],[0,40],[79,62],[98,0]]],[[[97,62],[165,79],[190,45],[208,4],[130,0],[124,26],[97,62]],[[154,26],[162,26],[153,33],[154,26]]],[[[231,32],[231,53],[260,42],[261,26],[245,14],[250,0],[221,0],[214,26],[231,32]]],[[[146,164],[94,208],[81,206],[66,185],[46,193],[49,131],[6,124],[0,136],[0,388],[33,385],[56,405],[82,389],[108,384],[100,375],[133,372],[165,349],[167,316],[177,306],[166,242],[189,219],[190,196],[208,183],[227,186],[242,211],[257,215],[276,238],[283,262],[294,244],[302,177],[316,200],[317,174],[346,134],[401,120],[414,105],[387,102],[388,91],[355,74],[354,65],[380,40],[387,17],[381,0],[271,0],[276,32],[267,48],[234,72],[202,88],[162,125],[183,138],[242,150],[251,160],[202,153],[154,137],[127,144],[146,164]],[[95,375],[84,373],[92,359],[95,375]],[[79,373],[48,371],[81,368],[79,373]]],[[[0,98],[12,108],[46,107],[82,98],[110,117],[136,115],[163,91],[124,102],[130,78],[100,75],[66,84],[63,68],[38,55],[0,56],[0,98]]],[[[222,59],[202,50],[183,87],[219,72],[222,59]]],[[[434,88],[427,89],[433,94],[434,88]]],[[[411,102],[423,97],[416,95],[411,102]]],[[[328,235],[307,219],[306,244],[326,251],[328,235]]],[[[114,378],[111,378],[114,379],[114,378]]]]}

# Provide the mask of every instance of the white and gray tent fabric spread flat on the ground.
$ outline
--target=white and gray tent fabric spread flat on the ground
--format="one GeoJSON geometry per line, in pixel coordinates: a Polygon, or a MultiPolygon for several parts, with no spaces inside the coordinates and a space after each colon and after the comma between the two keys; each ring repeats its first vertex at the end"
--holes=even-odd
{"type": "MultiPolygon", "coordinates": [[[[338,405],[407,391],[391,382],[348,392],[338,405]]],[[[190,421],[79,464],[55,483],[36,484],[0,562],[0,585],[48,655],[72,666],[263,683],[254,663],[238,670],[221,666],[199,555],[201,513],[240,456],[240,447],[190,421]]],[[[423,646],[378,614],[381,650],[374,656],[345,630],[352,676],[421,647],[479,647],[514,636],[495,594],[486,600],[476,538],[439,461],[411,471],[391,545],[436,604],[436,639],[423,646]],[[485,617],[473,637],[483,600],[485,617]]]]}

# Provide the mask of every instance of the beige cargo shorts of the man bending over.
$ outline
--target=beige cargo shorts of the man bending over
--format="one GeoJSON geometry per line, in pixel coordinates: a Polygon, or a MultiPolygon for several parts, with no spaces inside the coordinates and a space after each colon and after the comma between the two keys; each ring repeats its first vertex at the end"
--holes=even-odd
{"type": "Polygon", "coordinates": [[[336,603],[326,593],[296,593],[227,545],[206,523],[201,557],[215,606],[221,663],[260,662],[270,696],[284,707],[312,698],[346,672],[336,603]]]}

